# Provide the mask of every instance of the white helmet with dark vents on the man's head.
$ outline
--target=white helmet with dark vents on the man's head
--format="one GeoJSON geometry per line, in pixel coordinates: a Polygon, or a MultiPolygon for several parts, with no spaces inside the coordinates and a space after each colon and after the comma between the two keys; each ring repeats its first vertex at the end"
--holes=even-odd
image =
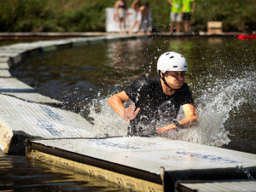
{"type": "Polygon", "coordinates": [[[166,52],[157,61],[157,71],[187,71],[188,64],[183,55],[176,52],[166,52]]]}

